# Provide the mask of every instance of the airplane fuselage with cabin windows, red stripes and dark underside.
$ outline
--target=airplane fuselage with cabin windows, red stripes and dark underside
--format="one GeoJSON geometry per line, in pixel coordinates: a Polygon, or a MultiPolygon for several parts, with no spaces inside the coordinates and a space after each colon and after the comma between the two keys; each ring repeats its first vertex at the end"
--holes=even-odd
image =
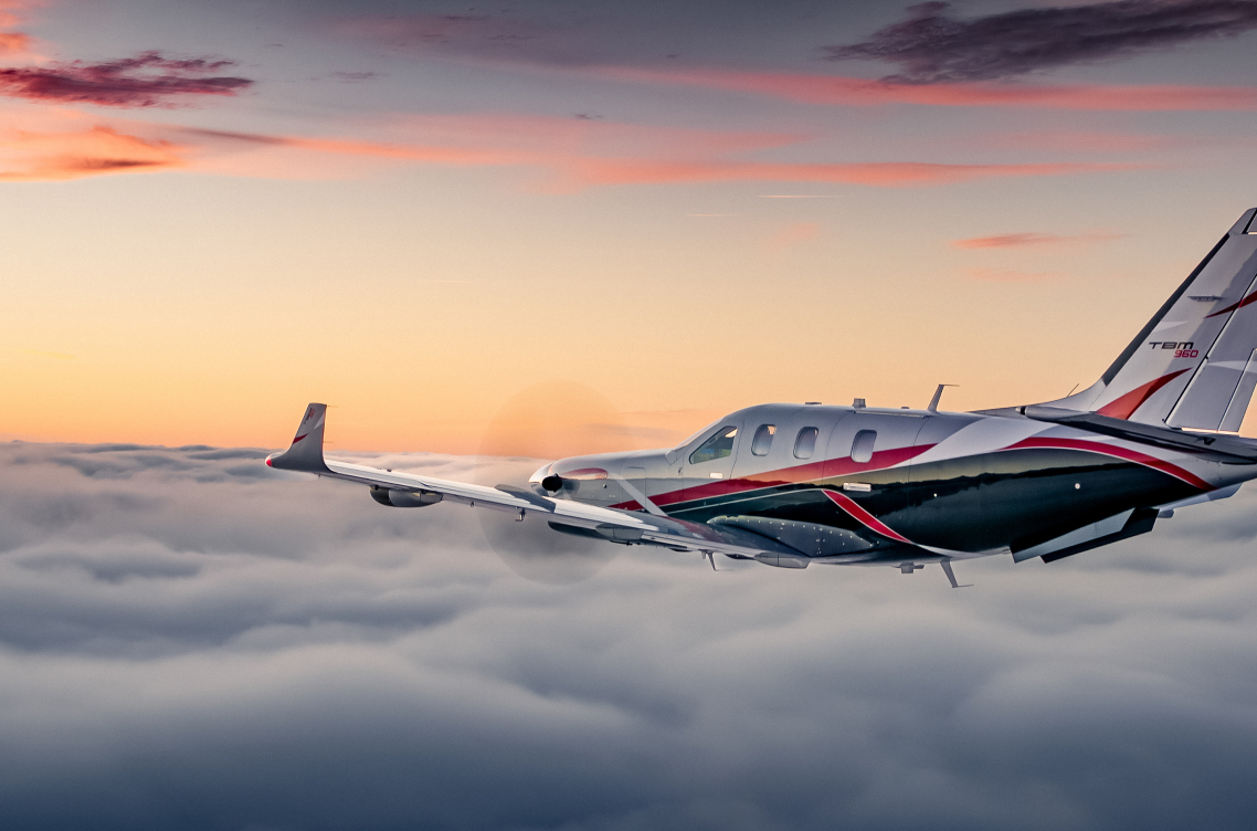
{"type": "Polygon", "coordinates": [[[1252,478],[1254,464],[1210,461],[1016,411],[769,404],[733,412],[679,448],[562,459],[530,484],[587,504],[771,532],[812,558],[874,563],[920,561],[931,551],[957,559],[1051,557],[1089,542],[1080,536],[1045,547],[1075,529],[1109,520],[1090,541],[1143,533],[1166,505],[1252,478]],[[730,431],[725,455],[699,455],[730,431]],[[561,483],[553,492],[542,487],[549,476],[561,483]]]}

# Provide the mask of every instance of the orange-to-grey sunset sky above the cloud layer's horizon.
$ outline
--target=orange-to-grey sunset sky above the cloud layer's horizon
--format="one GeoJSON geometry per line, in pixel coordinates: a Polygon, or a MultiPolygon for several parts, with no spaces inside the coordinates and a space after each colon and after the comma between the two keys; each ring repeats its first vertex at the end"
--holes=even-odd
{"type": "Polygon", "coordinates": [[[1042,401],[1257,205],[1253,3],[0,24],[0,439],[272,448],[326,401],[339,448],[471,453],[535,385],[647,445],[1042,401]]]}

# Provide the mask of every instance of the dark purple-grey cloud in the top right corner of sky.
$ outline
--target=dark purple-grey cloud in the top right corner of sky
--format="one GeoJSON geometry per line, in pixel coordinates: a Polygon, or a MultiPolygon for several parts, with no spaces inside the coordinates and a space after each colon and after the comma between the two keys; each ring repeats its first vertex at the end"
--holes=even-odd
{"type": "Polygon", "coordinates": [[[910,6],[908,20],[864,41],[828,47],[833,60],[901,67],[886,80],[940,83],[1014,78],[1067,64],[1232,36],[1257,28],[1251,0],[1120,0],[1018,9],[960,20],[949,3],[910,6]]]}

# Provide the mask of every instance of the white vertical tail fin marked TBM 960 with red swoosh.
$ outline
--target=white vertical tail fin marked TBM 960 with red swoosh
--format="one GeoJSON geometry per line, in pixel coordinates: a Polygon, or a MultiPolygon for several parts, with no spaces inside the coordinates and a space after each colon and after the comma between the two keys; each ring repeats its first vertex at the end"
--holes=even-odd
{"type": "Polygon", "coordinates": [[[1091,387],[1051,406],[1239,429],[1257,386],[1257,209],[1244,212],[1091,387]]]}

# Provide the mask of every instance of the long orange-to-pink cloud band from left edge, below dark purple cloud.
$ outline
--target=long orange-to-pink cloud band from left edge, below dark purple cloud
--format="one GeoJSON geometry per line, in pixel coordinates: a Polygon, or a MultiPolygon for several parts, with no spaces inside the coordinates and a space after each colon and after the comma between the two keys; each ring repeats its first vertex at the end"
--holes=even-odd
{"type": "Polygon", "coordinates": [[[329,173],[328,157],[360,165],[515,167],[533,186],[572,192],[615,185],[813,182],[909,187],[997,177],[1065,176],[1136,167],[1126,162],[773,162],[738,158],[802,142],[782,133],[719,132],[572,118],[493,116],[411,118],[410,141],[362,141],[212,131],[145,122],[21,131],[0,136],[0,176],[74,179],[126,170],[187,170],[238,176],[329,173]],[[313,156],[312,156],[313,155],[313,156]],[[279,163],[277,163],[277,160],[279,163]],[[303,161],[304,160],[304,161],[303,161]]]}

